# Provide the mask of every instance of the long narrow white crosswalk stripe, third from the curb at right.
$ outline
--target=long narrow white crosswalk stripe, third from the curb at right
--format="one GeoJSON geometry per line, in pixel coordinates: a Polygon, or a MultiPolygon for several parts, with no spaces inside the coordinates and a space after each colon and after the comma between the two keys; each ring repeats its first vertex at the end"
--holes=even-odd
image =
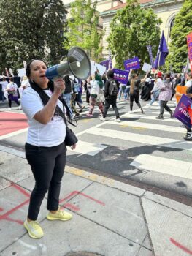
{"type": "MultiPolygon", "coordinates": [[[[114,124],[114,121],[107,121],[106,124],[114,124]]],[[[149,124],[149,123],[142,123],[139,121],[121,121],[120,123],[115,123],[115,125],[122,126],[122,127],[135,127],[135,128],[144,128],[144,129],[155,129],[161,130],[164,132],[179,132],[185,133],[185,129],[181,127],[174,127],[164,124],[149,124]]]]}

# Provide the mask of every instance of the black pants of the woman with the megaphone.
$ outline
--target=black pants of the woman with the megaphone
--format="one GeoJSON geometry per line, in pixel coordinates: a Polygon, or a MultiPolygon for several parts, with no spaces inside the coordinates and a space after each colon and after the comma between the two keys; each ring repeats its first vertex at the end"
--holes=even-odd
{"type": "Polygon", "coordinates": [[[61,178],[66,165],[66,146],[38,147],[26,143],[26,159],[34,174],[35,187],[31,193],[28,218],[37,220],[42,200],[48,191],[47,210],[58,210],[61,178]]]}

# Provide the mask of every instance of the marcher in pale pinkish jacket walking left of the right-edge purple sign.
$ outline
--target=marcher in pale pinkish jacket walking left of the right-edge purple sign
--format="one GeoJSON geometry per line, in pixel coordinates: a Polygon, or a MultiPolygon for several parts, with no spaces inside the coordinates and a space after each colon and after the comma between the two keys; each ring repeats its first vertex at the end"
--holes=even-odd
{"type": "Polygon", "coordinates": [[[172,80],[171,74],[166,73],[166,80],[161,80],[157,83],[157,87],[160,90],[158,100],[160,101],[160,114],[156,119],[164,119],[164,109],[170,113],[171,118],[173,117],[172,110],[167,106],[167,102],[172,98],[172,80]]]}

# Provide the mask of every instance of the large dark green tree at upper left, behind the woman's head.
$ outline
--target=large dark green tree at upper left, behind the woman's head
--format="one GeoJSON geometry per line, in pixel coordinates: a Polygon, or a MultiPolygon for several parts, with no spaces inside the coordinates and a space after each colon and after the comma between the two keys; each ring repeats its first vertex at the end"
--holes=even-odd
{"type": "Polygon", "coordinates": [[[23,60],[58,63],[64,55],[61,0],[0,1],[0,68],[18,69],[23,60]]]}

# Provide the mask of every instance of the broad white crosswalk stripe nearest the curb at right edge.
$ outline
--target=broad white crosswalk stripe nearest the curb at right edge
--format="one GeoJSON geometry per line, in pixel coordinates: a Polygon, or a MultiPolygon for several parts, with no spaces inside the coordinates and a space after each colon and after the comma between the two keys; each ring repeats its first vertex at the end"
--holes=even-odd
{"type": "Polygon", "coordinates": [[[150,170],[158,173],[192,179],[191,162],[140,154],[133,162],[131,162],[130,165],[139,167],[139,169],[142,170],[150,170]]]}

